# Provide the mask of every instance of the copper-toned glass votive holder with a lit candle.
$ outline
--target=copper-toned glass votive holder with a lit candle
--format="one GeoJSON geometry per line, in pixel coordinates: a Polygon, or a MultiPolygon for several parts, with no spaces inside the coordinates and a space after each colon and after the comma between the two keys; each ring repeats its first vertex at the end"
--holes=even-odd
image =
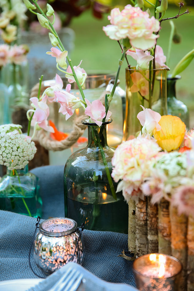
{"type": "Polygon", "coordinates": [[[182,266],[177,258],[148,254],[133,263],[136,286],[140,291],[177,291],[182,266]]]}

